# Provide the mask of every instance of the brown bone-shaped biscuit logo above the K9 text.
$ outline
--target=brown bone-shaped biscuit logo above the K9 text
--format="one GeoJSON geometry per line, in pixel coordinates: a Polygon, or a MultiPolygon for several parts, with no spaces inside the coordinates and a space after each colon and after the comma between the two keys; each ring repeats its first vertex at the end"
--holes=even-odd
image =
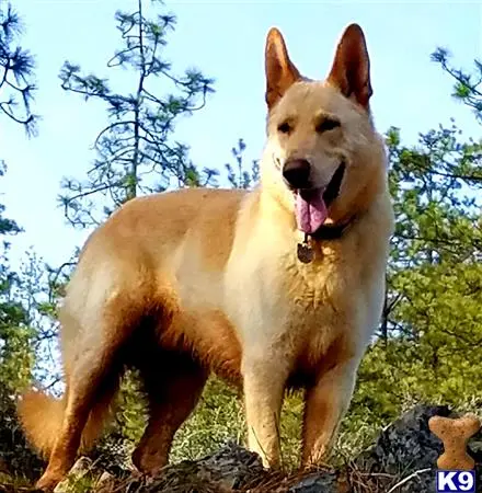
{"type": "Polygon", "coordinates": [[[467,454],[467,443],[481,427],[473,414],[450,419],[433,416],[428,420],[431,432],[444,444],[444,454],[437,459],[438,469],[469,471],[475,461],[467,454]]]}

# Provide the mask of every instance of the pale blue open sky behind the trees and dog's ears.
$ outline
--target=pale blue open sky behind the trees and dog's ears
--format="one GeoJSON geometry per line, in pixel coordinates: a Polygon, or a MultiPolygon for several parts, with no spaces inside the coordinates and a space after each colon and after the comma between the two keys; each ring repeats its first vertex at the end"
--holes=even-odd
{"type": "MultiPolygon", "coordinates": [[[[84,71],[111,76],[128,88],[126,73],[105,67],[119,46],[114,13],[133,10],[134,0],[16,0],[24,47],[36,56],[35,112],[39,136],[26,139],[22,128],[0,121],[0,156],[9,167],[0,183],[7,216],[25,233],[14,240],[18,262],[31,245],[50,264],[66,261],[87,232],[67,226],[56,197],[64,175],[81,179],[94,158],[91,145],[105,124],[102,105],[61,90],[64,60],[84,71]]],[[[482,54],[482,3],[463,1],[168,1],[177,16],[165,57],[181,72],[192,66],[216,79],[207,106],[177,125],[175,138],[191,147],[200,167],[220,168],[242,137],[248,157],[264,144],[264,42],[278,26],[299,70],[323,78],[343,28],[358,22],[371,59],[372,111],[380,131],[395,125],[414,142],[418,131],[454,116],[467,136],[480,137],[470,111],[450,98],[451,80],[431,62],[437,45],[454,53],[454,62],[470,68],[482,54]]],[[[158,93],[163,93],[159,83],[158,93]]]]}

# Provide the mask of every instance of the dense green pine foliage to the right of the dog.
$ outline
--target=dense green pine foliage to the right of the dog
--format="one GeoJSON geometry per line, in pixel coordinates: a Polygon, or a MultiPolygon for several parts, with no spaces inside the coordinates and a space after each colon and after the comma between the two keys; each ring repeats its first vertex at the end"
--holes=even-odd
{"type": "Polygon", "coordinates": [[[390,309],[354,401],[377,420],[406,402],[480,398],[482,369],[482,141],[463,141],[452,125],[413,147],[392,128],[387,142],[397,217],[390,309]]]}

